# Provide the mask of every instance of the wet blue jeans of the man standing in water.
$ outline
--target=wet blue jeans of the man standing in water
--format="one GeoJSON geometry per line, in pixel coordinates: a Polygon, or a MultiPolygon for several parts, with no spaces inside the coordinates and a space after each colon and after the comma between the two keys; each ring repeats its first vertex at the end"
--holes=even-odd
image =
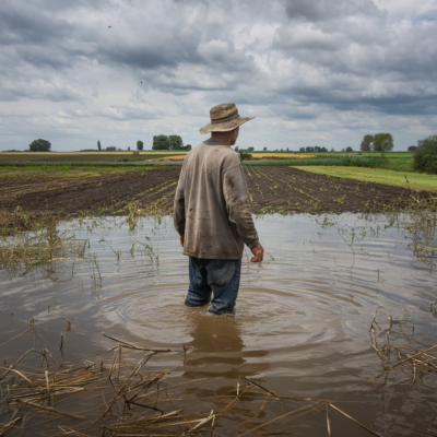
{"type": "Polygon", "coordinates": [[[211,302],[210,312],[234,310],[241,274],[241,260],[214,260],[190,257],[190,286],[185,305],[201,307],[211,302]],[[212,300],[211,300],[211,294],[212,300]]]}

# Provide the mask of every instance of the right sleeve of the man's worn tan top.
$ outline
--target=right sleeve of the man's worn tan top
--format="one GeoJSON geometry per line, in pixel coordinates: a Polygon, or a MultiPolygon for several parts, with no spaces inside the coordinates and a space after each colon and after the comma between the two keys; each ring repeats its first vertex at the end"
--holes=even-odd
{"type": "Polygon", "coordinates": [[[237,226],[243,241],[252,248],[259,241],[250,212],[243,165],[231,167],[223,175],[223,192],[229,221],[237,226]]]}

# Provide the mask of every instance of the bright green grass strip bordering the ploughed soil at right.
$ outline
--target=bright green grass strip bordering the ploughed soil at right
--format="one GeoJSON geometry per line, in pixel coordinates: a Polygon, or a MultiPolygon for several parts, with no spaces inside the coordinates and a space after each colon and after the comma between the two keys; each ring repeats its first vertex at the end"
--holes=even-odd
{"type": "Polygon", "coordinates": [[[300,170],[318,173],[347,179],[368,182],[386,184],[395,187],[405,187],[414,190],[437,191],[437,175],[421,173],[401,173],[380,168],[342,167],[342,166],[294,166],[300,170]]]}

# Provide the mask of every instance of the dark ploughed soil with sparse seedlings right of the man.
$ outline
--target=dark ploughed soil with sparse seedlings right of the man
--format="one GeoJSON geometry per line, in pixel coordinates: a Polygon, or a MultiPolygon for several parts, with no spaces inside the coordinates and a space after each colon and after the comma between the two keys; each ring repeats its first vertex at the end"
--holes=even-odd
{"type": "MultiPolygon", "coordinates": [[[[402,209],[426,191],[317,175],[293,167],[246,167],[246,184],[255,212],[381,212],[402,209]]],[[[414,201],[416,202],[416,201],[414,201]]]]}

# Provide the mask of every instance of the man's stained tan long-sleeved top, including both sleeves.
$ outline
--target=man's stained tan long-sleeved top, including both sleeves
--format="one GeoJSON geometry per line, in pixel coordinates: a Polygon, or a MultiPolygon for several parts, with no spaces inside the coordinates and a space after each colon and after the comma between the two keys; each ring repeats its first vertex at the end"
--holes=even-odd
{"type": "Polygon", "coordinates": [[[188,153],[174,221],[184,235],[184,255],[190,257],[239,259],[244,244],[257,245],[241,158],[225,142],[208,140],[188,153]]]}

